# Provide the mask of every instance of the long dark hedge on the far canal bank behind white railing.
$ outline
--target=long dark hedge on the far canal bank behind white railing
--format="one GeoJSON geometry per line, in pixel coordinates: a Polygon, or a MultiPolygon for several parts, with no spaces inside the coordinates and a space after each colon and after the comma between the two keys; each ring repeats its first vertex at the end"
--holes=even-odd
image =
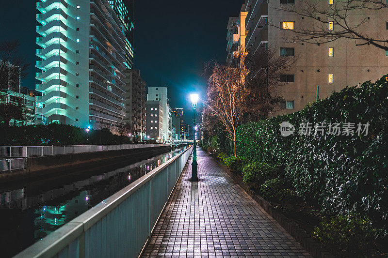
{"type": "Polygon", "coordinates": [[[68,124],[0,126],[0,145],[92,145],[128,144],[129,137],[113,135],[109,129],[90,130],[68,124]]]}

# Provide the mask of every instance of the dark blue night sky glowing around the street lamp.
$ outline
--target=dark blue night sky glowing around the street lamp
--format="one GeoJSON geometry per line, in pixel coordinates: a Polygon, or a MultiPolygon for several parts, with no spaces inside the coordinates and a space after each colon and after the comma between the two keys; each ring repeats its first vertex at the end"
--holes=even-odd
{"type": "MultiPolygon", "coordinates": [[[[244,0],[135,0],[135,67],[147,86],[168,84],[172,107],[191,108],[189,94],[206,93],[207,61],[226,60],[226,25],[244,0]]],[[[35,87],[35,0],[7,1],[0,8],[0,41],[18,39],[31,63],[22,86],[35,87]],[[16,11],[16,12],[15,12],[16,11]]],[[[190,121],[187,111],[185,121],[190,121]]]]}

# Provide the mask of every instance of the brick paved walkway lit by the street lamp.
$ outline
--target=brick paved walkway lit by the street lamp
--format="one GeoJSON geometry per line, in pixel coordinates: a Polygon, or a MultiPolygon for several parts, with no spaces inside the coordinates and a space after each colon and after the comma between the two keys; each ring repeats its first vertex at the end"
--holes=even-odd
{"type": "Polygon", "coordinates": [[[200,148],[178,180],[143,257],[309,257],[308,252],[200,148]]]}

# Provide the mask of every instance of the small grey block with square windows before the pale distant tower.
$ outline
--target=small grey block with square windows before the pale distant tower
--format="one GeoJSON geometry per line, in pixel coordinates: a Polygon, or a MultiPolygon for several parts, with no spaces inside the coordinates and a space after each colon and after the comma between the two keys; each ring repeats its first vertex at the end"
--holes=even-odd
{"type": "Polygon", "coordinates": [[[160,100],[147,100],[146,104],[146,132],[147,138],[163,140],[163,106],[160,100]]]}

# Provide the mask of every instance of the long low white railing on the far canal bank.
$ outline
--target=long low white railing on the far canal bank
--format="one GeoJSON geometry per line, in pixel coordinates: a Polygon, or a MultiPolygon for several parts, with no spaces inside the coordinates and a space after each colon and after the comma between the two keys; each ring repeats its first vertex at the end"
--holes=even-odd
{"type": "Polygon", "coordinates": [[[68,146],[0,146],[0,157],[33,157],[84,152],[117,151],[170,146],[170,144],[68,145],[68,146]]]}

